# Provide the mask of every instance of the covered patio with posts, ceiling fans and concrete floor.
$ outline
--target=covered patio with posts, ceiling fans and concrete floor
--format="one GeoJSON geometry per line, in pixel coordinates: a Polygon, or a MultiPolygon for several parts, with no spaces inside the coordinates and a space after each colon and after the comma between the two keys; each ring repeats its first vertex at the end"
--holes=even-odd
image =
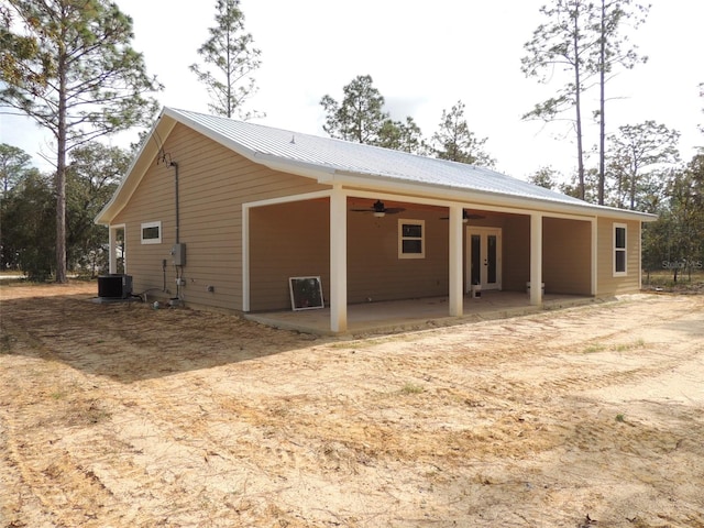
{"type": "Polygon", "coordinates": [[[447,324],[596,294],[588,216],[337,186],[244,204],[243,226],[243,311],[274,327],[350,334],[447,324]],[[326,309],[284,311],[290,277],[319,277],[326,309]],[[527,294],[527,284],[548,286],[527,294]],[[472,285],[483,302],[470,297],[472,285]],[[409,298],[433,300],[394,302],[409,298]]]}

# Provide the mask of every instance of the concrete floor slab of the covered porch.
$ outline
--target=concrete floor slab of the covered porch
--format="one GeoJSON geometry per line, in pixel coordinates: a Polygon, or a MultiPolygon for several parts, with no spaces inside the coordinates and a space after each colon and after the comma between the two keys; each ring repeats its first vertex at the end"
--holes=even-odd
{"type": "MultiPolygon", "coordinates": [[[[481,297],[463,298],[463,315],[448,316],[449,299],[429,297],[422,299],[391,300],[353,304],[348,306],[348,336],[393,333],[428,328],[464,324],[493,319],[538,314],[601,302],[592,296],[544,295],[542,306],[530,304],[530,296],[519,292],[482,292],[481,297]]],[[[274,328],[297,330],[320,336],[336,334],[330,330],[330,307],[301,311],[271,311],[245,314],[249,320],[274,328]]]]}

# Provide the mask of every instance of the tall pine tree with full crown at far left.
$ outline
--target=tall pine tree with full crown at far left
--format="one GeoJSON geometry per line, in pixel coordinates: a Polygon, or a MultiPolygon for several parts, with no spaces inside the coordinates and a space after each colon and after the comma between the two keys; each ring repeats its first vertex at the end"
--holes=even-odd
{"type": "MultiPolygon", "coordinates": [[[[66,155],[106,134],[147,124],[161,89],[131,46],[132,20],[107,0],[10,0],[32,53],[10,64],[0,102],[34,119],[56,140],[56,282],[66,276],[66,155]]],[[[6,67],[6,64],[2,64],[6,67]]],[[[4,75],[4,69],[3,69],[4,75]]]]}

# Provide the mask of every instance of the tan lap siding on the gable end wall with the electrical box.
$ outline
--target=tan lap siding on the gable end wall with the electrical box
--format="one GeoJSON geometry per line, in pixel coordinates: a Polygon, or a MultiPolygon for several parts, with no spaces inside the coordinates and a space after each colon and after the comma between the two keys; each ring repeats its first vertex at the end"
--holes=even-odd
{"type": "MultiPolygon", "coordinates": [[[[315,180],[271,170],[235,154],[206,136],[177,124],[164,144],[179,169],[182,243],[186,249],[183,276],[186,302],[242,309],[242,204],[324,189],[315,180]],[[207,292],[212,286],[213,292],[207,292]]],[[[168,263],[166,289],[176,294],[176,271],[170,262],[175,242],[175,169],[154,161],[128,206],[113,219],[125,224],[128,273],[134,290],[164,284],[162,261],[168,263]],[[140,224],[162,221],[162,243],[140,243],[140,224]]]]}

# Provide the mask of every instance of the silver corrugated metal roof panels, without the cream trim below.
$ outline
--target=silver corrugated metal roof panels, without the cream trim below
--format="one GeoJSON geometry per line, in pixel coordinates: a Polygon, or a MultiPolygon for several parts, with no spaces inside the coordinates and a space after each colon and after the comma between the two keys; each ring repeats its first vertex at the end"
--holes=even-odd
{"type": "Polygon", "coordinates": [[[235,150],[239,146],[241,154],[263,164],[266,164],[265,160],[276,160],[279,164],[286,162],[298,166],[302,164],[330,173],[350,173],[398,183],[588,206],[587,202],[578,198],[490,168],[187,110],[167,108],[164,113],[190,124],[212,139],[220,139],[222,143],[235,150]]]}

